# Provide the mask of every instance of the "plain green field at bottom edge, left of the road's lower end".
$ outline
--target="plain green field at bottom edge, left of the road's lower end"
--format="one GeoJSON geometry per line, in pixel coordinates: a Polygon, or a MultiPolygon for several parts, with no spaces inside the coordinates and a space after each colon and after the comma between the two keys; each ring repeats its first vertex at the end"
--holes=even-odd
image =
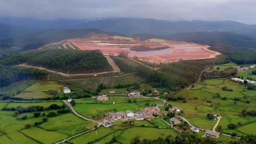
{"type": "Polygon", "coordinates": [[[21,132],[25,133],[26,135],[33,139],[49,144],[68,138],[68,135],[55,131],[45,131],[38,127],[31,127],[30,129],[25,129],[22,130],[21,132]]]}

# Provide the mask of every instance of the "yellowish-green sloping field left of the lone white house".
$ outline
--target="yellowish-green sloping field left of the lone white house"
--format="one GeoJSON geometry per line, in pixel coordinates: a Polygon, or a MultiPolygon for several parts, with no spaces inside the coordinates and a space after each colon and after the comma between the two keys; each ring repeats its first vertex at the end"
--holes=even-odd
{"type": "Polygon", "coordinates": [[[20,94],[15,95],[15,97],[23,99],[49,98],[54,95],[50,94],[48,91],[58,91],[62,89],[63,85],[57,84],[55,81],[37,81],[20,94]]]}

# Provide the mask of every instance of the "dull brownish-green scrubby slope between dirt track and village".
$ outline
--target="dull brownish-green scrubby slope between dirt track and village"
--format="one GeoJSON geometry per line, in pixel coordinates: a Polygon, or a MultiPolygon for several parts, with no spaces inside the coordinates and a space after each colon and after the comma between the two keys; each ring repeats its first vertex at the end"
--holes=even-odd
{"type": "Polygon", "coordinates": [[[118,77],[107,77],[107,78],[90,78],[76,81],[65,81],[71,84],[82,86],[86,89],[96,90],[98,85],[105,84],[107,87],[115,87],[117,84],[134,84],[140,83],[143,79],[135,74],[118,76],[118,77]]]}

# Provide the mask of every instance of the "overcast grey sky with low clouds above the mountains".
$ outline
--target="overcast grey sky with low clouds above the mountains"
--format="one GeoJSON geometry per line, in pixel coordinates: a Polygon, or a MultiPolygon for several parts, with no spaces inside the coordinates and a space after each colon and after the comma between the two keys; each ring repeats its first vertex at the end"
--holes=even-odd
{"type": "Polygon", "coordinates": [[[0,17],[154,18],[256,23],[255,0],[0,0],[0,17]]]}

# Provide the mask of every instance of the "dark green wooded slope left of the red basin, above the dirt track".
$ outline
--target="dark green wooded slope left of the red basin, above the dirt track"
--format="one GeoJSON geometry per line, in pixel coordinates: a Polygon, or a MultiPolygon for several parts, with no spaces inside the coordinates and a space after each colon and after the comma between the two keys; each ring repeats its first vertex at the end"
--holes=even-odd
{"type": "Polygon", "coordinates": [[[112,70],[107,59],[99,50],[82,51],[69,49],[38,50],[11,55],[0,61],[3,65],[17,63],[44,67],[62,73],[95,73],[112,70]]]}

